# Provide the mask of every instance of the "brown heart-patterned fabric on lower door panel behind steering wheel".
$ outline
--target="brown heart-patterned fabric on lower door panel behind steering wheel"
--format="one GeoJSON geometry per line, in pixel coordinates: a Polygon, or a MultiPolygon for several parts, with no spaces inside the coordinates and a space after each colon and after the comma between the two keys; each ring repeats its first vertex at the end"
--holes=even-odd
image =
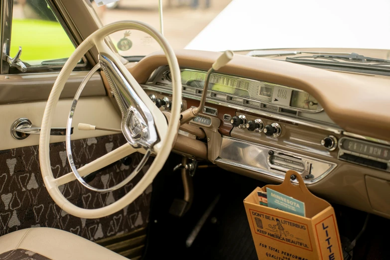
{"type": "MultiPolygon", "coordinates": [[[[79,168],[126,142],[122,134],[72,141],[73,158],[79,168]]],[[[107,188],[125,179],[137,166],[142,154],[131,154],[103,168],[88,183],[107,188]]],[[[71,172],[65,142],[50,144],[50,161],[54,177],[71,172]]],[[[87,209],[109,205],[125,195],[144,175],[143,169],[125,187],[114,192],[99,193],[84,188],[78,181],[60,186],[62,194],[73,204],[87,209]]],[[[38,146],[0,151],[0,236],[31,228],[61,229],[95,241],[146,227],[149,215],[151,186],[123,210],[99,219],[71,216],[54,203],[44,187],[39,168],[38,146]]]]}

